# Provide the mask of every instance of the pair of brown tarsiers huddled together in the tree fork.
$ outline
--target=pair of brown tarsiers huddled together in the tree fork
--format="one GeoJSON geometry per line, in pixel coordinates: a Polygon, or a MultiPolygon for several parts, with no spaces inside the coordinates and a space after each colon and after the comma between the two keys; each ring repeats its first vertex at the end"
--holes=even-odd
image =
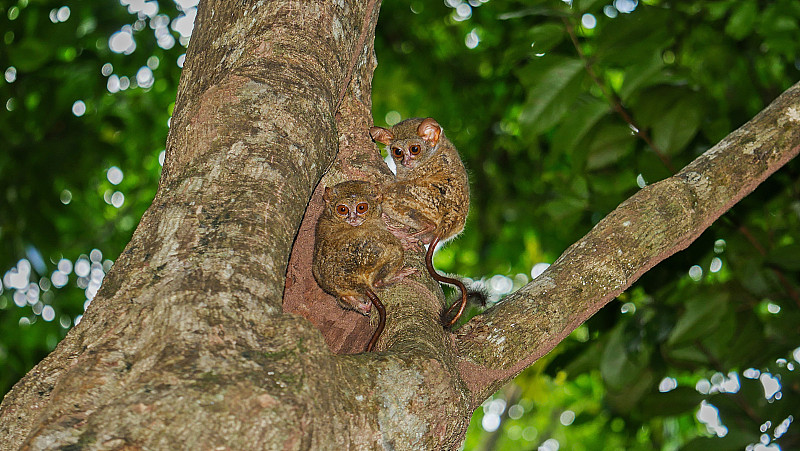
{"type": "Polygon", "coordinates": [[[406,250],[428,245],[428,272],[461,290],[461,301],[442,314],[442,321],[449,327],[461,316],[466,306],[464,285],[438,274],[431,258],[439,242],[464,229],[469,211],[467,172],[435,120],[407,119],[391,130],[372,127],[370,136],[387,146],[397,166],[396,177],[384,186],[347,181],[325,188],[312,267],[319,286],[336,296],[343,308],[364,315],[373,305],[378,310],[378,327],[367,351],[374,348],[386,321],[374,290],[416,272],[403,264],[406,250]]]}

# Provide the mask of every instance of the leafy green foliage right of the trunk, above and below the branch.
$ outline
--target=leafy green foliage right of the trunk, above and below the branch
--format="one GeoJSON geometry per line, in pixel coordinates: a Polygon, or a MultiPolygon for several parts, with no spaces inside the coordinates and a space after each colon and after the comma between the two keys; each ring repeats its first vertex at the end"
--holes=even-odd
{"type": "MultiPolygon", "coordinates": [[[[569,3],[386,2],[378,24],[376,122],[434,116],[471,169],[437,265],[497,297],[800,75],[792,2],[569,3]]],[[[800,405],[798,180],[790,163],[487,401],[466,448],[797,447],[777,426],[800,405]]]]}

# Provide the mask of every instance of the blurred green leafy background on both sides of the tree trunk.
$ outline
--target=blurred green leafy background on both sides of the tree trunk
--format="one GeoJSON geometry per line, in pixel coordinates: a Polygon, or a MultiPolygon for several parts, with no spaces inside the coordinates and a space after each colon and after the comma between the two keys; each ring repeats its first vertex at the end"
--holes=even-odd
{"type": "MultiPolygon", "coordinates": [[[[198,0],[0,6],[0,393],[151,202],[198,0]]],[[[794,0],[385,0],[377,125],[433,116],[472,208],[437,266],[524,285],[800,79],[794,0]]],[[[465,449],[800,448],[800,163],[479,408],[465,449]]],[[[482,307],[475,307],[477,313],[482,307]]]]}

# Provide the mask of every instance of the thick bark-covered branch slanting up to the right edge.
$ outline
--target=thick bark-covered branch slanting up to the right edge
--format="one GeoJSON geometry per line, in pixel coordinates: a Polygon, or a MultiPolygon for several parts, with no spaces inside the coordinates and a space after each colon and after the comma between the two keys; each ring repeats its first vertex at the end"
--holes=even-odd
{"type": "Polygon", "coordinates": [[[623,202],[547,271],[458,331],[480,403],[628,288],[685,249],[800,151],[800,84],[678,174],[623,202]]]}

